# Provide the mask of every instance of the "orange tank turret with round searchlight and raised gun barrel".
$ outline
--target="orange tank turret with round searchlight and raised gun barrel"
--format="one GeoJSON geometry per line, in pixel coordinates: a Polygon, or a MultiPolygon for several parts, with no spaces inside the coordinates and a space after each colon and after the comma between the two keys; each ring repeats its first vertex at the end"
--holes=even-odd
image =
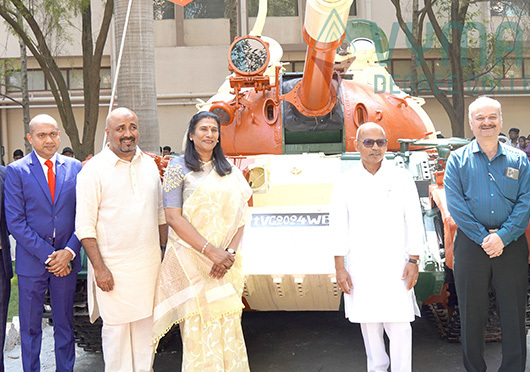
{"type": "Polygon", "coordinates": [[[420,102],[400,91],[374,59],[380,53],[363,36],[367,21],[347,20],[351,4],[307,1],[303,72],[282,72],[278,57],[271,58],[281,47],[259,33],[232,43],[233,74],[202,108],[222,117],[228,155],[354,152],[357,129],[368,121],[385,129],[392,151],[399,150],[400,138],[432,137],[420,102]],[[382,79],[392,83],[381,89],[382,79]]]}

